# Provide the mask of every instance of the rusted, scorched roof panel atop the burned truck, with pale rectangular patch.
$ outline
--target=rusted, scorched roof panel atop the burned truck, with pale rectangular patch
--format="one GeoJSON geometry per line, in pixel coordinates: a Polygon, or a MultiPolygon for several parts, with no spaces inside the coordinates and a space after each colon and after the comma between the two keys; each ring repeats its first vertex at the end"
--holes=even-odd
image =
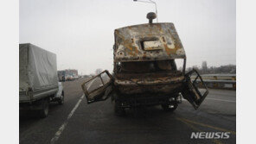
{"type": "Polygon", "coordinates": [[[115,30],[115,62],[159,59],[186,59],[173,23],[148,23],[115,30]]]}

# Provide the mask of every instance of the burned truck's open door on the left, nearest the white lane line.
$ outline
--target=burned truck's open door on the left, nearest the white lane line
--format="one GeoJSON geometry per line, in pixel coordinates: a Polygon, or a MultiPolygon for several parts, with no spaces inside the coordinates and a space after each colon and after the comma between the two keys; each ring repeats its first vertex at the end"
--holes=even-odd
{"type": "Polygon", "coordinates": [[[106,70],[84,82],[81,87],[85,93],[87,103],[106,100],[112,92],[113,78],[106,70]]]}

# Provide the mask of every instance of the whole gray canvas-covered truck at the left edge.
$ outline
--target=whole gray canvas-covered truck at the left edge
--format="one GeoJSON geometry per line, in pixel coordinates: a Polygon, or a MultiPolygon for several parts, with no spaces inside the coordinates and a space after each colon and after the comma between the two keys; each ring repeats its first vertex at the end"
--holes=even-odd
{"type": "Polygon", "coordinates": [[[50,102],[64,103],[64,91],[58,82],[56,54],[26,43],[19,46],[20,110],[38,110],[48,116],[50,102]]]}

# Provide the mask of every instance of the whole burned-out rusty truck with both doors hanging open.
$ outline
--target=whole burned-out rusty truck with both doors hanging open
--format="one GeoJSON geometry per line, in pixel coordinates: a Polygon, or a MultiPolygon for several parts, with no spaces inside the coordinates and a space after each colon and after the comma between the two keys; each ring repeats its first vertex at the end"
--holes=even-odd
{"type": "Polygon", "coordinates": [[[149,23],[118,28],[114,31],[113,74],[108,71],[88,79],[81,87],[87,103],[112,97],[115,113],[125,108],[161,104],[163,110],[176,110],[181,96],[195,110],[208,95],[208,88],[195,70],[185,72],[186,54],[173,23],[149,23]],[[176,59],[182,59],[178,70],[176,59]],[[190,76],[195,74],[195,79],[190,76]],[[204,91],[197,88],[202,85],[204,91]]]}

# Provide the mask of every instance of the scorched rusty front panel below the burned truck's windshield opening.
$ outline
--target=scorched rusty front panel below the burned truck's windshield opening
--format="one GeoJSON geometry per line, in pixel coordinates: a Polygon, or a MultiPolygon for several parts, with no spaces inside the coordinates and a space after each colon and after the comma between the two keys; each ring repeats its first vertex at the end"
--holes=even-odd
{"type": "Polygon", "coordinates": [[[184,76],[180,74],[152,73],[150,77],[150,74],[130,73],[117,75],[114,85],[121,95],[158,96],[175,93],[175,90],[182,87],[184,80],[184,76]]]}

